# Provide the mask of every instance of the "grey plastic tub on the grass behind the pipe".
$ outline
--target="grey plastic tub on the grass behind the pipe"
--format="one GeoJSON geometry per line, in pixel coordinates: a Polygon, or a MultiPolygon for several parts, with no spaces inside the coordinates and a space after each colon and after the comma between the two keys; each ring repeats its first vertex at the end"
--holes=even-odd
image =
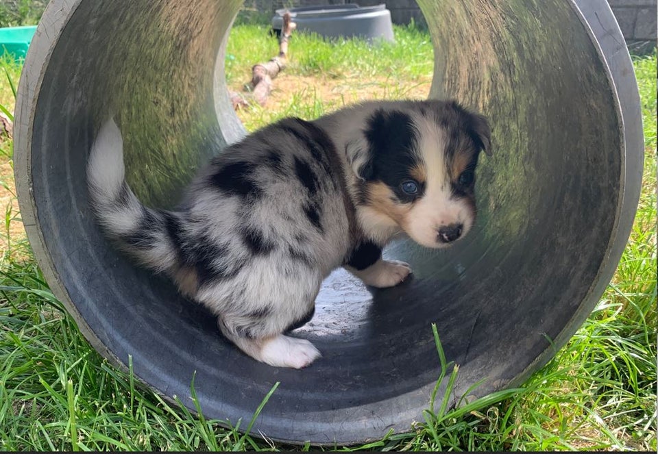
{"type": "Polygon", "coordinates": [[[386,5],[360,6],[349,5],[304,6],[276,10],[272,18],[272,29],[277,35],[281,33],[283,15],[290,12],[297,30],[308,31],[325,38],[365,38],[369,41],[378,39],[393,42],[393,25],[391,12],[386,5]]]}

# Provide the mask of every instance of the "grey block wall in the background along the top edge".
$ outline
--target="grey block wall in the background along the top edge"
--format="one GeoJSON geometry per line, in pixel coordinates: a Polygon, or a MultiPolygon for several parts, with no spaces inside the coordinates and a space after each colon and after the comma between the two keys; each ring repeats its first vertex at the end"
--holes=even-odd
{"type": "MultiPolygon", "coordinates": [[[[658,28],[658,0],[608,0],[622,29],[629,48],[649,51],[656,47],[658,28]]],[[[412,19],[424,24],[425,19],[415,0],[245,0],[245,5],[263,12],[274,13],[278,8],[310,5],[344,5],[358,3],[362,6],[386,3],[393,23],[406,24],[412,19]]]]}

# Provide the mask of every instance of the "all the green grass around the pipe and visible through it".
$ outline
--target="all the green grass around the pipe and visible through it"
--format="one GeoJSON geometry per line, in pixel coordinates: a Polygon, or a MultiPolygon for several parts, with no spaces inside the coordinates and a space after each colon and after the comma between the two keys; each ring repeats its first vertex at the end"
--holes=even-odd
{"type": "MultiPolygon", "coordinates": [[[[399,30],[396,30],[398,33],[399,30]]],[[[254,62],[276,54],[276,42],[248,40],[265,32],[257,25],[236,27],[227,65],[232,84],[241,84],[254,62]],[[235,40],[234,40],[235,38],[235,40]],[[247,52],[248,48],[248,52],[247,52]]],[[[403,31],[404,33],[404,31],[403,31]]],[[[295,40],[295,56],[286,70],[297,77],[324,77],[333,83],[382,71],[398,62],[413,85],[432,68],[426,35],[409,29],[404,50],[372,51],[397,55],[374,57],[359,43],[313,44],[295,40]],[[350,47],[352,58],[343,51],[350,47]],[[319,51],[315,52],[315,49],[319,51]],[[343,49],[343,50],[339,50],[343,49]],[[413,52],[411,52],[413,54],[413,52]],[[404,58],[403,58],[404,56],[404,58]],[[384,61],[385,63],[381,63],[384,61]]],[[[307,41],[306,41],[307,40],[307,41]]],[[[400,42],[400,33],[398,33],[400,42]]],[[[292,46],[292,45],[291,45],[292,46]]],[[[431,48],[429,49],[431,52],[431,48]]],[[[644,184],[633,232],[613,281],[596,310],[550,362],[523,386],[459,409],[430,405],[411,433],[389,436],[349,449],[410,451],[554,451],[656,449],[656,55],[635,60],[642,96],[646,157],[644,184]]],[[[8,62],[12,80],[20,66],[8,62]]],[[[0,73],[2,76],[2,73],[0,73]]],[[[323,79],[324,80],[324,79],[323,79]]],[[[404,92],[404,87],[400,88],[404,92]]],[[[388,93],[395,97],[395,92],[388,93]]],[[[12,90],[0,78],[0,104],[13,106],[12,90]]],[[[312,88],[293,92],[289,103],[272,113],[244,112],[250,128],[277,116],[317,116],[340,101],[327,102],[312,88]]],[[[10,140],[0,138],[6,163],[10,140]]],[[[12,186],[10,178],[5,185],[12,186]]],[[[15,216],[15,213],[14,213],[15,216]]],[[[5,234],[7,236],[7,234],[5,234]]],[[[5,238],[6,239],[6,238],[5,238]]],[[[14,238],[18,240],[19,238],[14,238]]],[[[10,244],[14,244],[14,240],[10,244]]],[[[24,244],[24,243],[23,243],[24,244]]],[[[130,373],[110,366],[82,338],[73,319],[53,297],[29,248],[3,253],[0,267],[0,449],[13,450],[258,450],[287,449],[224,429],[217,421],[171,405],[136,382],[130,373]]],[[[448,368],[437,343],[437,361],[448,368]]],[[[454,373],[459,373],[453,369],[454,373]]],[[[450,383],[454,375],[444,377],[450,383]]],[[[192,383],[191,383],[192,385],[192,383]]],[[[276,390],[274,390],[276,392],[276,390]]],[[[191,396],[193,388],[191,388],[191,396]]],[[[266,396],[263,396],[265,399],[266,396]]],[[[267,404],[265,404],[267,405],[267,404]]],[[[254,408],[254,412],[258,409],[254,408]]],[[[249,421],[232,422],[248,427],[249,421]]],[[[343,449],[342,446],[336,446],[343,449]]],[[[302,450],[310,449],[303,446],[302,450]]]]}

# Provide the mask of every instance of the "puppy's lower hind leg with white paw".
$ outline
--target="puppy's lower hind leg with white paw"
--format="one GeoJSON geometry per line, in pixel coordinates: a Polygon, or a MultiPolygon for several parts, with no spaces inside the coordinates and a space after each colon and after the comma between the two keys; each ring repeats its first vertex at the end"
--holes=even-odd
{"type": "Polygon", "coordinates": [[[308,340],[284,336],[278,317],[258,318],[220,316],[217,325],[244,353],[270,366],[301,369],[321,356],[308,340]]]}

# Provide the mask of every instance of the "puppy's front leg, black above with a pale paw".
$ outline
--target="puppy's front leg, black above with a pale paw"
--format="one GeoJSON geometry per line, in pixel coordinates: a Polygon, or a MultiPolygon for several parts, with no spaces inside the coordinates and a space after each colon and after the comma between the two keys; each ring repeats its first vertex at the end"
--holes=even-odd
{"type": "Polygon", "coordinates": [[[383,260],[382,249],[371,242],[361,243],[354,249],[345,269],[367,286],[387,288],[404,281],[411,267],[398,260],[383,260]]]}

